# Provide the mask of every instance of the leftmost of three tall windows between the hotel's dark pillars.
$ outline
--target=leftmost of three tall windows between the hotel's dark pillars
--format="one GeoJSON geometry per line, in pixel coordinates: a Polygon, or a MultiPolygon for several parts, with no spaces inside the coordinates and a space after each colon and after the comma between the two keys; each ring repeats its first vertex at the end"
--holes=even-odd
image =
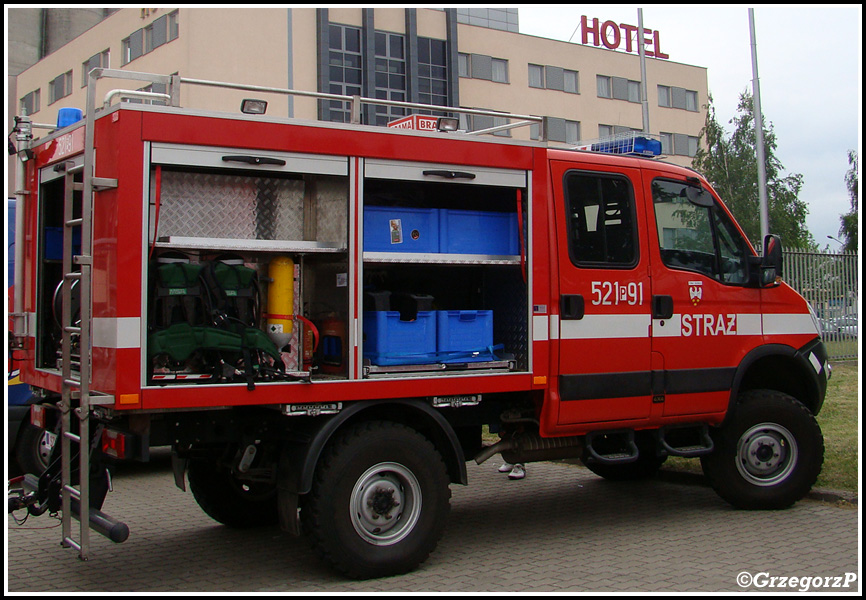
{"type": "MultiPolygon", "coordinates": [[[[361,30],[357,27],[331,24],[328,28],[328,92],[360,96],[362,85],[361,30]]],[[[331,121],[351,121],[348,102],[328,102],[331,121]]]]}

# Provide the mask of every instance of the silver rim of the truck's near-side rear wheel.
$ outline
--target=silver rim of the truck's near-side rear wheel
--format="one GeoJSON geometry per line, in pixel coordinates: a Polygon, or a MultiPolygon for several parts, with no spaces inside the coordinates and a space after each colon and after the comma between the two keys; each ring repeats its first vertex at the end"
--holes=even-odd
{"type": "Polygon", "coordinates": [[[355,531],[376,546],[405,538],[421,515],[421,486],[401,464],[379,463],[367,469],[352,490],[351,518],[355,531]]]}

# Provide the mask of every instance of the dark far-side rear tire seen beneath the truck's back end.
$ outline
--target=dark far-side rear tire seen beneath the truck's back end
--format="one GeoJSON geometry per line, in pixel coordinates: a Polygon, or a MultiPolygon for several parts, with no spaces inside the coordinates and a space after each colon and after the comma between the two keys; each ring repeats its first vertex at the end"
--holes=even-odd
{"type": "Polygon", "coordinates": [[[261,527],[279,521],[274,485],[239,481],[227,467],[204,460],[190,461],[187,478],[201,509],[223,525],[261,527]]]}

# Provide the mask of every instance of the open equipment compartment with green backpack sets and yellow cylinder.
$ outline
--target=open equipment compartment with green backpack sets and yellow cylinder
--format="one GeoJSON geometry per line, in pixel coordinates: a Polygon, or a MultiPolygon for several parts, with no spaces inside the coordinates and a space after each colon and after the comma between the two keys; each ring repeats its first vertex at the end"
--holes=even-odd
{"type": "Polygon", "coordinates": [[[153,144],[147,383],[347,378],[348,203],[346,157],[153,144]]]}

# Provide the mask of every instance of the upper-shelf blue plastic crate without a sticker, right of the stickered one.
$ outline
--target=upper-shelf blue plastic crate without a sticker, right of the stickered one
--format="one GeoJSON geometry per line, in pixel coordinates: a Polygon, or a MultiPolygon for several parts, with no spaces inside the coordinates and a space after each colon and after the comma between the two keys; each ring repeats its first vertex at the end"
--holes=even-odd
{"type": "Polygon", "coordinates": [[[439,251],[517,255],[520,253],[517,213],[441,209],[439,251]]]}

